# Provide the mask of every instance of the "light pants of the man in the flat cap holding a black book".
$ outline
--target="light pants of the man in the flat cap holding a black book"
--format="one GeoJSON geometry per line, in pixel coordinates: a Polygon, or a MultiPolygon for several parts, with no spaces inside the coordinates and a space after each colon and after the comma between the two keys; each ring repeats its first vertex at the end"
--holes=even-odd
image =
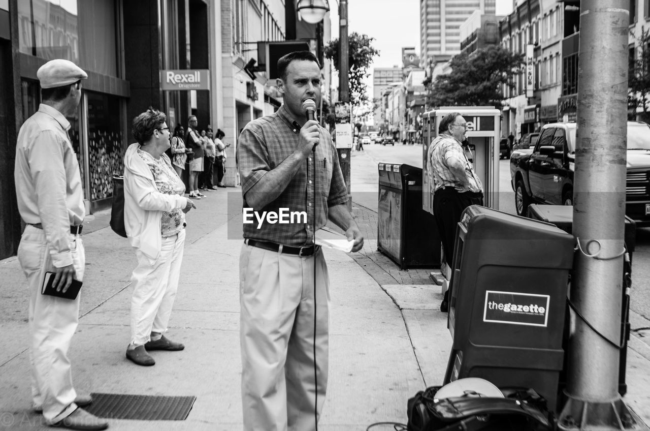
{"type": "MultiPolygon", "coordinates": [[[[70,234],[70,249],[75,277],[82,281],[86,258],[81,236],[70,234]]],[[[79,323],[81,292],[73,300],[41,294],[45,272],[55,271],[42,229],[32,225],[25,227],[18,246],[18,261],[30,292],[32,403],[35,408],[43,408],[45,421],[52,424],[68,417],[77,408],[68,349],[79,323]]]]}

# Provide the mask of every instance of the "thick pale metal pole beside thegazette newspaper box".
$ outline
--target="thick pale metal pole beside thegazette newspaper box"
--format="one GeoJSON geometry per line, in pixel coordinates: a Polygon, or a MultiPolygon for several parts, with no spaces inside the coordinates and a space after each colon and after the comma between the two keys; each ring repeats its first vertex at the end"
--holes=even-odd
{"type": "Polygon", "coordinates": [[[636,429],[617,392],[627,143],[629,10],[618,0],[580,2],[576,251],[567,402],[560,430],[636,429]],[[591,327],[586,323],[588,322],[591,327]]]}

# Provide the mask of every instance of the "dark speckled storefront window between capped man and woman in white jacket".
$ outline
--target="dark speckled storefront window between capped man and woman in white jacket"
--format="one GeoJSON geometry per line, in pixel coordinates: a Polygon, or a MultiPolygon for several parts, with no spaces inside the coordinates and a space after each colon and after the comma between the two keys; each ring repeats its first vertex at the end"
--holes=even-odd
{"type": "Polygon", "coordinates": [[[112,196],[114,173],[124,171],[120,99],[88,92],[90,200],[112,196]]]}

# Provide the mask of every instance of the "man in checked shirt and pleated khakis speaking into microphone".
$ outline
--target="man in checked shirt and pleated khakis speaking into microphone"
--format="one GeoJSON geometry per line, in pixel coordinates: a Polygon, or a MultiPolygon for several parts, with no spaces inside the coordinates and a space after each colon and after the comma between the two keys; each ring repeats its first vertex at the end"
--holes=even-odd
{"type": "Polygon", "coordinates": [[[303,223],[244,224],[240,346],[244,430],[314,430],[328,380],[329,279],[314,231],[328,219],[363,247],[330,133],[302,104],[320,99],[315,55],[278,61],[278,112],[253,120],[237,148],[244,207],[305,212],[303,223]],[[314,149],[315,148],[315,149],[314,149]],[[315,174],[315,181],[313,175],[315,174]],[[306,193],[305,193],[306,191],[306,193]],[[315,204],[314,204],[315,201],[315,204]],[[314,284],[315,282],[315,284],[314,284]]]}

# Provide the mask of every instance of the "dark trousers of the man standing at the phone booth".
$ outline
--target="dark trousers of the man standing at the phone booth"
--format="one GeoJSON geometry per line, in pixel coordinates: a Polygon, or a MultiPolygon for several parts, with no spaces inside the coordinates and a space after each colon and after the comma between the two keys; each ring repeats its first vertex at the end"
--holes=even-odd
{"type": "Polygon", "coordinates": [[[456,228],[463,210],[470,205],[483,205],[483,193],[474,193],[472,191],[460,193],[453,187],[445,187],[434,193],[435,224],[438,227],[440,240],[443,243],[445,262],[450,268],[454,260],[456,228]]]}

